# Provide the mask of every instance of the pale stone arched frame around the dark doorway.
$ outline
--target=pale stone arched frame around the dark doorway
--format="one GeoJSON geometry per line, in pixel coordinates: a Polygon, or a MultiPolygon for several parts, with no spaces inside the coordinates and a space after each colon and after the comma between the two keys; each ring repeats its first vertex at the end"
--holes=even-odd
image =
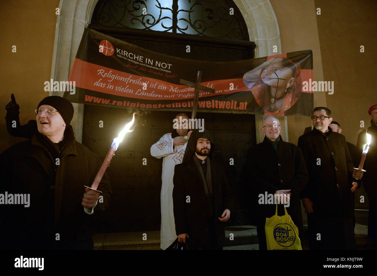
{"type": "MultiPolygon", "coordinates": [[[[281,53],[280,32],[274,10],[269,0],[233,0],[244,17],[250,41],[257,45],[255,57],[263,57],[281,53]],[[278,53],[273,53],[273,46],[278,53]]],[[[98,0],[60,0],[60,16],[55,29],[54,51],[52,55],[51,78],[66,81],[75,59],[84,28],[92,19],[98,0]]],[[[63,92],[50,92],[50,95],[62,96],[63,92]]],[[[75,113],[72,127],[76,140],[82,141],[84,105],[73,104],[75,113]]],[[[263,115],[256,115],[257,143],[263,140],[259,129],[263,124],[263,115]]],[[[283,139],[288,141],[287,117],[280,121],[283,139]]]]}

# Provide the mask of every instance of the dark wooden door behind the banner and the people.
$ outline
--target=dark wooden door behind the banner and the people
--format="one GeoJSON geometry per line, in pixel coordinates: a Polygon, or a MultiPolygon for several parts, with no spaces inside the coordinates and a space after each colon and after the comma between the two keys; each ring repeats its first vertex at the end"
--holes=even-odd
{"type": "MultiPolygon", "coordinates": [[[[253,42],[248,41],[90,27],[152,51],[196,60],[249,59],[253,57],[255,47],[253,42]],[[192,45],[190,53],[186,53],[186,45],[192,45]]],[[[195,81],[196,72],[186,79],[195,81]]],[[[137,127],[127,134],[107,169],[113,195],[109,208],[101,212],[103,223],[99,232],[160,229],[162,159],[150,155],[150,146],[161,136],[171,132],[172,120],[177,113],[149,110],[140,112],[137,127]],[[147,165],[143,165],[143,158],[147,158],[147,165]]],[[[127,109],[85,105],[83,144],[103,160],[112,139],[130,118],[131,113],[127,109]],[[99,121],[103,121],[103,128],[99,127],[99,121]]],[[[247,149],[256,143],[254,115],[201,113],[198,110],[197,118],[204,118],[205,128],[214,136],[215,155],[223,163],[234,194],[236,212],[232,214],[229,224],[250,224],[244,210],[248,199],[244,196],[241,171],[247,149]],[[234,165],[230,165],[230,158],[233,158],[234,165]]]]}

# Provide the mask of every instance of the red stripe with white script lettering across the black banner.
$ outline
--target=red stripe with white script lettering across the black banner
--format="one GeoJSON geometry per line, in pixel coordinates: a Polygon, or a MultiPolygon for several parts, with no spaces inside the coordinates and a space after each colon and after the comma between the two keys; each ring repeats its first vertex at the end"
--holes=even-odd
{"type": "MultiPolygon", "coordinates": [[[[157,71],[156,73],[162,74],[163,76],[171,75],[157,71]]],[[[86,62],[77,58],[72,66],[69,81],[75,81],[76,87],[116,96],[144,100],[184,100],[193,98],[195,92],[195,89],[189,86],[172,84],[155,78],[138,76],[86,62]],[[147,83],[146,90],[143,90],[144,83],[147,83]]],[[[202,94],[199,94],[199,97],[250,91],[250,89],[244,85],[242,78],[205,81],[202,82],[201,85],[215,89],[215,94],[200,90],[202,94]],[[232,84],[233,90],[230,89],[232,84]]]]}

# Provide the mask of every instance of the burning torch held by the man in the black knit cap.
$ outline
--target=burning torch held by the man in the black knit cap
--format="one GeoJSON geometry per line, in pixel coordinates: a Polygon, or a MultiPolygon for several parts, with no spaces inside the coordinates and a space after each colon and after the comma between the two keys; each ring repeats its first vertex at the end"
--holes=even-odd
{"type": "Polygon", "coordinates": [[[102,166],[100,167],[100,170],[98,170],[98,173],[97,173],[96,177],[94,178],[92,186],[90,186],[90,187],[84,186],[84,187],[87,187],[89,189],[92,189],[92,190],[95,190],[97,192],[102,193],[101,191],[97,190],[98,185],[100,184],[101,179],[102,179],[107,167],[110,166],[111,159],[115,155],[115,151],[118,149],[120,142],[122,142],[124,135],[127,132],[133,131],[133,130],[130,130],[130,127],[133,125],[134,122],[135,122],[135,113],[133,113],[133,115],[132,115],[131,122],[126,124],[126,126],[123,128],[123,130],[118,134],[118,137],[114,138],[113,143],[110,146],[109,152],[107,152],[105,160],[103,160],[102,166]]]}

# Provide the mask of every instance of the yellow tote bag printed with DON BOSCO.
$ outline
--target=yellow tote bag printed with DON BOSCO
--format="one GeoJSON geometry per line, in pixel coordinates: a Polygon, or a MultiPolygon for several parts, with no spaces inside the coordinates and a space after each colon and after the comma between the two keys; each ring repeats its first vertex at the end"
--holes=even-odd
{"type": "Polygon", "coordinates": [[[292,218],[284,206],[285,215],[277,215],[266,218],[265,232],[267,250],[302,250],[299,238],[299,229],[294,225],[292,218]]]}

